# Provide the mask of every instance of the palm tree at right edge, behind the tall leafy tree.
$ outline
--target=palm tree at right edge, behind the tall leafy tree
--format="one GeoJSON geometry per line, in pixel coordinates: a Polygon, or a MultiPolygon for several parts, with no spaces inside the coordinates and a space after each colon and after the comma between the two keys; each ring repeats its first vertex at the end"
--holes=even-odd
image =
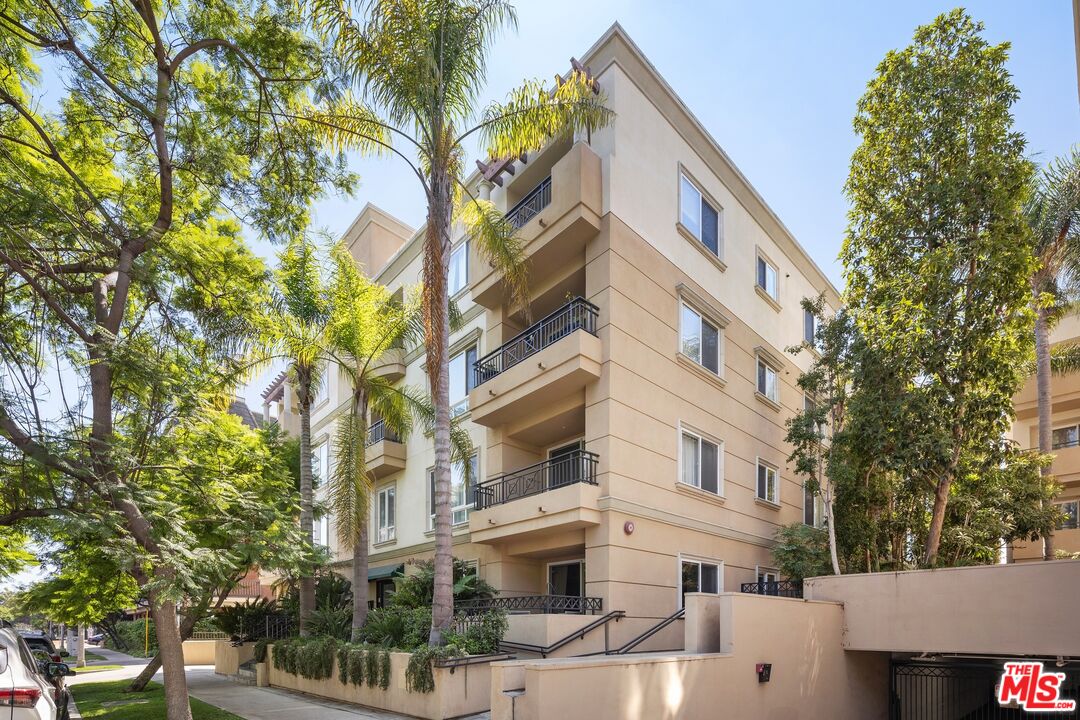
{"type": "MultiPolygon", "coordinates": [[[[1036,385],[1039,407],[1039,452],[1053,450],[1053,398],[1051,393],[1052,358],[1050,329],[1059,315],[1055,301],[1076,282],[1080,269],[1080,151],[1052,162],[1038,179],[1025,208],[1027,223],[1035,235],[1035,252],[1039,268],[1031,276],[1035,304],[1036,385]]],[[[1075,354],[1075,353],[1074,353],[1075,354]]],[[[1058,361],[1058,370],[1068,369],[1068,354],[1058,361]]],[[[1050,474],[1050,466],[1042,468],[1050,474]]],[[[1054,536],[1047,533],[1042,541],[1042,559],[1054,559],[1054,536]]]]}

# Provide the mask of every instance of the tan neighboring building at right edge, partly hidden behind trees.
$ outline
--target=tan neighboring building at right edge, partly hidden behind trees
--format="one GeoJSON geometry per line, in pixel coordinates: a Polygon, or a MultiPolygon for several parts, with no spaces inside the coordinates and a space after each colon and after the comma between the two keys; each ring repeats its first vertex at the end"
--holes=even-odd
{"type": "MultiPolygon", "coordinates": [[[[1080,342],[1080,314],[1070,314],[1061,320],[1050,334],[1051,347],[1061,343],[1080,342]]],[[[1062,484],[1057,504],[1064,519],[1054,532],[1054,549],[1064,553],[1080,553],[1080,375],[1054,375],[1051,380],[1053,397],[1053,453],[1051,471],[1062,484]]],[[[1035,377],[1028,378],[1024,389],[1013,400],[1016,421],[1012,436],[1021,447],[1039,447],[1039,405],[1035,377]]],[[[1016,542],[1012,546],[1012,559],[1016,562],[1042,559],[1042,541],[1016,542]]]]}

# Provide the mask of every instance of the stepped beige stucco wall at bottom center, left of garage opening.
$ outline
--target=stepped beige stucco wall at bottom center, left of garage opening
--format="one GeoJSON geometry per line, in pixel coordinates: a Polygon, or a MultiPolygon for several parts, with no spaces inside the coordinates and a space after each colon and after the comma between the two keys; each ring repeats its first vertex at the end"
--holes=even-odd
{"type": "Polygon", "coordinates": [[[887,716],[889,655],[842,648],[838,603],[688,594],[686,609],[687,649],[718,652],[498,663],[492,720],[887,716]]]}

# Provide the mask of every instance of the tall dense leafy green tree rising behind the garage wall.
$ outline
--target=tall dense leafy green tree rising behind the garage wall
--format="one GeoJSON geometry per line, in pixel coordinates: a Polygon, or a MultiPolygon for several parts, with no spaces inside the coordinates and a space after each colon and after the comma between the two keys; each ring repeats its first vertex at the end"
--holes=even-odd
{"type": "Polygon", "coordinates": [[[982,29],[953,11],[886,56],[859,101],[846,186],[846,300],[905,383],[891,463],[933,493],[927,566],[939,561],[958,483],[1030,467],[999,438],[1031,355],[1031,167],[1012,127],[1009,46],[982,29]]]}

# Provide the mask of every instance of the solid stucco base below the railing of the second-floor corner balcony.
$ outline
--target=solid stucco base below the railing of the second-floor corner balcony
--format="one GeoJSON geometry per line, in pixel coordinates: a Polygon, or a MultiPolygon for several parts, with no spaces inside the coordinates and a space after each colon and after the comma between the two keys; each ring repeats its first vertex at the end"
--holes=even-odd
{"type": "Polygon", "coordinates": [[[536,495],[473,511],[469,533],[475,543],[501,543],[599,525],[599,486],[576,483],[536,495]]]}

